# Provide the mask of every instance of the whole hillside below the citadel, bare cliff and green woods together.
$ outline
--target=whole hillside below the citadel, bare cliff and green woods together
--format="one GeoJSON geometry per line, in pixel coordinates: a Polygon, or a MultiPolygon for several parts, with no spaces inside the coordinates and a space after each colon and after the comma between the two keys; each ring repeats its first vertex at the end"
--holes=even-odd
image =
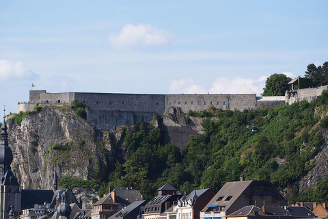
{"type": "Polygon", "coordinates": [[[272,110],[209,107],[184,115],[175,108],[153,123],[113,132],[99,131],[67,108],[42,107],[20,123],[8,119],[12,168],[24,188],[51,188],[57,164],[62,186],[92,187],[100,196],[108,185],[139,187],[150,198],[163,183],[182,192],[219,190],[226,181],[245,177],[271,180],[296,201],[304,198],[299,190],[310,188],[305,191],[313,194],[311,188],[327,176],[327,103],[323,92],[311,103],[272,110]],[[173,123],[176,130],[199,134],[179,149],[163,132],[173,123]],[[258,131],[251,131],[252,125],[258,131]]]}

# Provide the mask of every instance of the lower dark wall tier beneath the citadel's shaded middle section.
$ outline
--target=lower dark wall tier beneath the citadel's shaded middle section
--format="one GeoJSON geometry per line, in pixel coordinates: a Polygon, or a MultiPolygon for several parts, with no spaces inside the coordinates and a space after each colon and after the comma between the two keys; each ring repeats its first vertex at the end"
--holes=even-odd
{"type": "Polygon", "coordinates": [[[125,125],[137,123],[149,123],[154,115],[153,112],[132,112],[132,111],[108,111],[108,110],[87,110],[87,120],[100,130],[115,130],[125,125]]]}

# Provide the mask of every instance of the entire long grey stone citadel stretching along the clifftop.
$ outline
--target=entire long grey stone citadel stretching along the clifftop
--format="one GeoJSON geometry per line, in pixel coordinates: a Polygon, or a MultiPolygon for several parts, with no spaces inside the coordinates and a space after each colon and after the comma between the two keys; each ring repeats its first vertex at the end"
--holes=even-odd
{"type": "Polygon", "coordinates": [[[114,94],[63,92],[47,93],[30,90],[29,102],[18,103],[17,112],[33,110],[44,105],[70,105],[74,100],[87,106],[87,120],[101,130],[115,130],[125,125],[150,122],[162,116],[170,107],[183,113],[206,110],[210,105],[222,110],[256,110],[285,103],[284,96],[256,96],[256,94],[114,94]]]}

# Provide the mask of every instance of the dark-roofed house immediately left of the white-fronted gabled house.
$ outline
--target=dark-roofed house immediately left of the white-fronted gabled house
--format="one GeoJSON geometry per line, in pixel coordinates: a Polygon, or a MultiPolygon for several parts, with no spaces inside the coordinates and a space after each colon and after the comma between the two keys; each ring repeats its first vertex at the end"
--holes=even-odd
{"type": "Polygon", "coordinates": [[[176,194],[172,185],[165,184],[157,190],[158,195],[145,205],[144,219],[156,219],[167,211],[172,205],[176,205],[182,194],[176,194]]]}

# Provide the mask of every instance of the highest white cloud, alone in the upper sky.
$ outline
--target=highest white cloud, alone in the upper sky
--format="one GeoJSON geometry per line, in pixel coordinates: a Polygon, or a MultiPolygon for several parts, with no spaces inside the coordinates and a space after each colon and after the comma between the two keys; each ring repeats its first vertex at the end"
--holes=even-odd
{"type": "Polygon", "coordinates": [[[109,42],[115,48],[160,46],[167,44],[173,34],[165,29],[156,29],[148,24],[126,24],[120,33],[109,34],[109,42]]]}

